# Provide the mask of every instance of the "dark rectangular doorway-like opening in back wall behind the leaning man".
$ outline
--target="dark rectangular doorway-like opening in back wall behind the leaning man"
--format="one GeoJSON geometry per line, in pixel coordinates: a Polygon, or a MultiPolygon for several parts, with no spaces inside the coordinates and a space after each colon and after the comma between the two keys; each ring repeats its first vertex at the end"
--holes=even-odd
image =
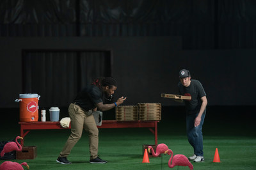
{"type": "Polygon", "coordinates": [[[111,76],[108,51],[24,51],[22,91],[38,93],[40,107],[67,106],[93,79],[111,76]]]}

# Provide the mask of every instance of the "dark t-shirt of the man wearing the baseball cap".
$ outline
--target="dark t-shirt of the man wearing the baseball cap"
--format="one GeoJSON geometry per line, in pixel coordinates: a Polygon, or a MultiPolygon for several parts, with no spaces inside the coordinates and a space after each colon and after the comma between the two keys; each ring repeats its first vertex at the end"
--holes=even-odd
{"type": "Polygon", "coordinates": [[[201,98],[206,96],[204,88],[199,81],[191,80],[188,87],[179,82],[179,93],[184,96],[191,96],[191,100],[185,100],[187,114],[196,114],[200,111],[202,101],[201,98]]]}

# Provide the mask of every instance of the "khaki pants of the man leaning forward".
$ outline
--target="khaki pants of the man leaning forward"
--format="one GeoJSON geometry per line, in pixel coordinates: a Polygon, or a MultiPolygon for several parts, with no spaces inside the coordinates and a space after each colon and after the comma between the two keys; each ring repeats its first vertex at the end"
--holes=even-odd
{"type": "Polygon", "coordinates": [[[71,122],[71,134],[67,139],[63,150],[59,157],[68,157],[72,148],[82,136],[83,128],[89,133],[89,146],[90,146],[90,159],[98,157],[98,144],[99,144],[99,130],[91,114],[83,111],[81,107],[76,104],[70,104],[68,107],[68,114],[71,122]]]}

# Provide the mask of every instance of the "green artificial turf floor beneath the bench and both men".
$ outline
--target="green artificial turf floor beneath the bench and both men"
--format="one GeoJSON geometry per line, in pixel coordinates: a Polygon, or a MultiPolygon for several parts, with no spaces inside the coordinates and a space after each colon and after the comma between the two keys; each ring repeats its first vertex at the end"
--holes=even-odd
{"type": "MultiPolygon", "coordinates": [[[[194,169],[256,169],[256,135],[253,120],[231,121],[209,116],[204,125],[205,162],[194,163],[194,169]],[[211,120],[209,118],[212,118],[211,120]],[[212,162],[216,148],[220,163],[212,162]]],[[[25,146],[36,146],[37,157],[33,160],[12,160],[27,162],[30,169],[170,169],[169,155],[149,157],[150,163],[142,163],[143,144],[154,144],[154,135],[147,128],[100,128],[99,155],[107,164],[90,164],[88,135],[73,148],[68,160],[70,165],[56,162],[70,130],[31,130],[25,137],[25,146]],[[162,164],[163,162],[163,164],[162,164]]],[[[19,126],[1,131],[1,141],[19,135],[19,126]]],[[[175,154],[189,157],[193,149],[189,145],[183,118],[170,118],[158,124],[158,143],[165,143],[175,154]]],[[[0,164],[5,160],[0,160],[0,164]]],[[[26,169],[26,167],[25,167],[26,169]]],[[[189,169],[174,167],[173,169],[189,169]]]]}

